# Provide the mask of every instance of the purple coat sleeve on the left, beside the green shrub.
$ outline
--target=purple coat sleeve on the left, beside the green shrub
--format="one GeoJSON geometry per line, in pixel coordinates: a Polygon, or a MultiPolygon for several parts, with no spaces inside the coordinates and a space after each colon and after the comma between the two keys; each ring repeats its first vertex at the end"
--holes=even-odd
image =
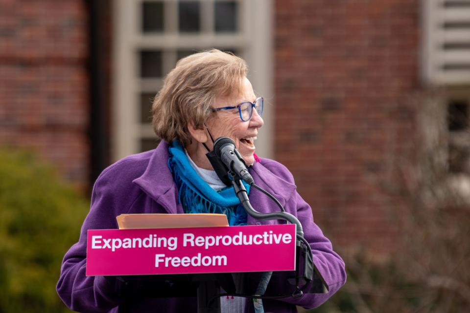
{"type": "Polygon", "coordinates": [[[92,205],[80,231],[80,239],[64,256],[57,293],[64,303],[77,312],[108,312],[121,302],[115,279],[86,276],[87,230],[116,229],[116,200],[96,182],[92,205]]]}

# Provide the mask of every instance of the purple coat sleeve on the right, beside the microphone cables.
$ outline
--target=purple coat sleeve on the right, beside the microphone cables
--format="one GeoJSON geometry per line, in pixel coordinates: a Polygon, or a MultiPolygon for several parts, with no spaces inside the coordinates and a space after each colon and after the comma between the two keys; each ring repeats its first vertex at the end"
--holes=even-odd
{"type": "MultiPolygon", "coordinates": [[[[344,261],[333,251],[331,242],[323,235],[322,230],[313,222],[312,209],[295,191],[286,208],[295,206],[297,218],[304,228],[304,237],[310,244],[313,254],[313,263],[322,274],[329,287],[328,293],[305,293],[299,298],[287,298],[283,301],[292,303],[306,309],[320,306],[329,299],[346,282],[344,261]]],[[[307,289],[308,290],[308,289],[307,289]]]]}

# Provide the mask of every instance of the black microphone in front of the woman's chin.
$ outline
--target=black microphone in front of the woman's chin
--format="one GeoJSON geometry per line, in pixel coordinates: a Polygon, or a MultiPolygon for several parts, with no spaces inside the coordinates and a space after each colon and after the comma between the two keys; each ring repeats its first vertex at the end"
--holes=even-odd
{"type": "Polygon", "coordinates": [[[235,148],[235,142],[229,137],[219,137],[214,142],[215,155],[222,160],[230,171],[234,172],[241,179],[249,185],[254,183],[248,169],[246,168],[245,161],[243,160],[240,152],[235,148]]]}

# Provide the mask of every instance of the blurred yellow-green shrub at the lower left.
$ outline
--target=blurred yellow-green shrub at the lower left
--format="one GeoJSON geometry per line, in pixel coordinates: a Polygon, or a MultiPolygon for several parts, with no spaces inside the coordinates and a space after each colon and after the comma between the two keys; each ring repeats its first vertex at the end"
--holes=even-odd
{"type": "Polygon", "coordinates": [[[55,292],[88,204],[32,154],[0,150],[0,312],[70,312],[55,292]]]}

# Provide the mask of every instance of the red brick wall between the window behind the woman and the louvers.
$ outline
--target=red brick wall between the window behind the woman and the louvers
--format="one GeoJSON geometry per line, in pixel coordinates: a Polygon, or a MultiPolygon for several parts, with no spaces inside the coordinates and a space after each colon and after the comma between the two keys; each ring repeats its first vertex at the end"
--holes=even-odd
{"type": "Polygon", "coordinates": [[[342,250],[390,250],[414,133],[418,0],[276,0],[276,158],[342,250]]]}

